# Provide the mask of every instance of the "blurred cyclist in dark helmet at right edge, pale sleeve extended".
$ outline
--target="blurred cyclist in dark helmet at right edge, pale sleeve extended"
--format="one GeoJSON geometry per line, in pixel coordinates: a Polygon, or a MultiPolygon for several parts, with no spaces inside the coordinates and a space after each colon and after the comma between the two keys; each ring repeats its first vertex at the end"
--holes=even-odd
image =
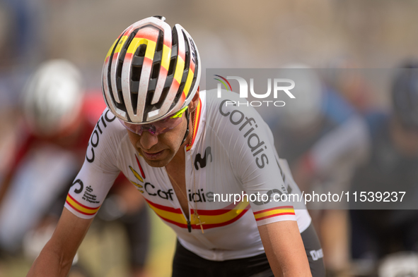
{"type": "MultiPolygon", "coordinates": [[[[338,161],[350,160],[352,191],[406,191],[414,202],[418,183],[418,68],[398,70],[391,90],[393,111],[354,116],[322,137],[305,154],[297,172],[303,180],[324,178],[338,161]]],[[[296,175],[296,173],[295,173],[296,175]]],[[[375,203],[376,204],[376,203],[375,203]]],[[[354,271],[376,274],[376,261],[399,251],[418,251],[416,209],[351,209],[351,254],[354,271]]]]}

